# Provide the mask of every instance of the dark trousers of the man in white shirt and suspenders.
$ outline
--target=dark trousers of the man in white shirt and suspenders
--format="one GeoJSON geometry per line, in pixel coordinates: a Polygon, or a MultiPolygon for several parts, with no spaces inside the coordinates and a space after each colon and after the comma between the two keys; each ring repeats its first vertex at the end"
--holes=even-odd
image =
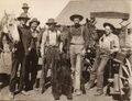
{"type": "Polygon", "coordinates": [[[54,97],[61,94],[61,86],[58,86],[58,70],[59,70],[59,48],[57,46],[46,47],[46,53],[43,58],[41,88],[45,88],[47,71],[51,69],[52,93],[54,97]]]}

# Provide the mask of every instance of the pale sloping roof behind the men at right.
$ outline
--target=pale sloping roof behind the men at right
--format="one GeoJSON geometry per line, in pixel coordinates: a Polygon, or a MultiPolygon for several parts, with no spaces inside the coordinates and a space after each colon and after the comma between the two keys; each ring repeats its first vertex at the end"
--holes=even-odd
{"type": "MultiPolygon", "coordinates": [[[[130,13],[129,0],[74,0],[62,10],[56,18],[58,24],[72,25],[73,22],[69,20],[72,14],[81,14],[84,18],[89,18],[90,12],[121,12],[130,13]]],[[[85,23],[85,19],[81,23],[85,23]]],[[[107,19],[107,18],[106,18],[107,19]]],[[[122,20],[101,20],[97,19],[97,27],[102,29],[103,22],[110,22],[117,27],[120,27],[122,20]]]]}

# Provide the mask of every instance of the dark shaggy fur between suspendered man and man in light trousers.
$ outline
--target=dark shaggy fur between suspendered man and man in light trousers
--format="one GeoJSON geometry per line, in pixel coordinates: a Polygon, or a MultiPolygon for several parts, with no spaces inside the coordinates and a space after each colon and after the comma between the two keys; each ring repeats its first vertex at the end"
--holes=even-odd
{"type": "Polygon", "coordinates": [[[67,54],[63,53],[61,55],[61,67],[58,70],[58,85],[61,88],[61,93],[69,96],[72,94],[72,77],[70,77],[70,60],[67,58],[67,54]]]}

